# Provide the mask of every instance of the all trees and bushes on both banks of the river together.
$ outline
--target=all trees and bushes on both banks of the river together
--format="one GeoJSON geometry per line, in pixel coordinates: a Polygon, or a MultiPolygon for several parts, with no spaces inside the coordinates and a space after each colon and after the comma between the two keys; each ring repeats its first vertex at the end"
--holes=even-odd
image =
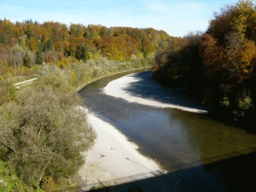
{"type": "Polygon", "coordinates": [[[104,75],[154,65],[162,83],[185,87],[226,119],[253,119],[255,42],[253,1],[221,9],[205,33],[184,37],[0,19],[0,191],[76,191],[80,152],[95,138],[76,90],[104,75]],[[13,86],[32,75],[34,83],[13,86]]]}

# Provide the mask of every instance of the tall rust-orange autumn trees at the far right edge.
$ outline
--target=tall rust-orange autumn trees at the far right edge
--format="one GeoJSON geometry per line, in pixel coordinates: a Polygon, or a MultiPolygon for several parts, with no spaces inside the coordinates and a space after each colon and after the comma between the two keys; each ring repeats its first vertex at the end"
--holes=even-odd
{"type": "Polygon", "coordinates": [[[239,1],[211,20],[202,42],[208,85],[215,84],[218,100],[236,119],[245,116],[256,99],[252,88],[256,77],[255,18],[253,1],[239,1]]]}

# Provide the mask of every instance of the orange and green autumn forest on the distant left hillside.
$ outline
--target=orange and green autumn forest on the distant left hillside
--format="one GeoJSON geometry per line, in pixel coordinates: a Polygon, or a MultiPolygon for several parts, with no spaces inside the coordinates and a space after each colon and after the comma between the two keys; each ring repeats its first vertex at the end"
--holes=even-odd
{"type": "Polygon", "coordinates": [[[162,41],[168,38],[166,32],[152,28],[0,19],[0,78],[30,75],[42,63],[57,65],[64,57],[83,61],[100,57],[124,61],[132,55],[146,58],[162,49],[162,41]]]}

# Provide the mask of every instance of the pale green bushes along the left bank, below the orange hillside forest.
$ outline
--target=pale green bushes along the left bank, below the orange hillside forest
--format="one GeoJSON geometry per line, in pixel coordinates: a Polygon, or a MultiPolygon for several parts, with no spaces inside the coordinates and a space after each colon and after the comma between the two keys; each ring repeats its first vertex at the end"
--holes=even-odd
{"type": "Polygon", "coordinates": [[[0,191],[77,190],[80,152],[96,136],[77,108],[82,101],[76,90],[108,74],[150,66],[151,59],[61,63],[41,66],[38,79],[18,90],[1,82],[0,191]]]}

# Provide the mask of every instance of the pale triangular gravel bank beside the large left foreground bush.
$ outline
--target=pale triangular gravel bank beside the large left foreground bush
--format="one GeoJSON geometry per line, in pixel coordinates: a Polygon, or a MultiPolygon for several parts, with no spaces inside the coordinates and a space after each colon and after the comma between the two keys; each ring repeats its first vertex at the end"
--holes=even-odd
{"type": "Polygon", "coordinates": [[[135,143],[130,142],[110,123],[87,109],[88,123],[97,134],[90,150],[83,152],[86,159],[78,170],[80,188],[90,190],[99,186],[111,186],[163,174],[160,165],[141,155],[135,143]]]}

